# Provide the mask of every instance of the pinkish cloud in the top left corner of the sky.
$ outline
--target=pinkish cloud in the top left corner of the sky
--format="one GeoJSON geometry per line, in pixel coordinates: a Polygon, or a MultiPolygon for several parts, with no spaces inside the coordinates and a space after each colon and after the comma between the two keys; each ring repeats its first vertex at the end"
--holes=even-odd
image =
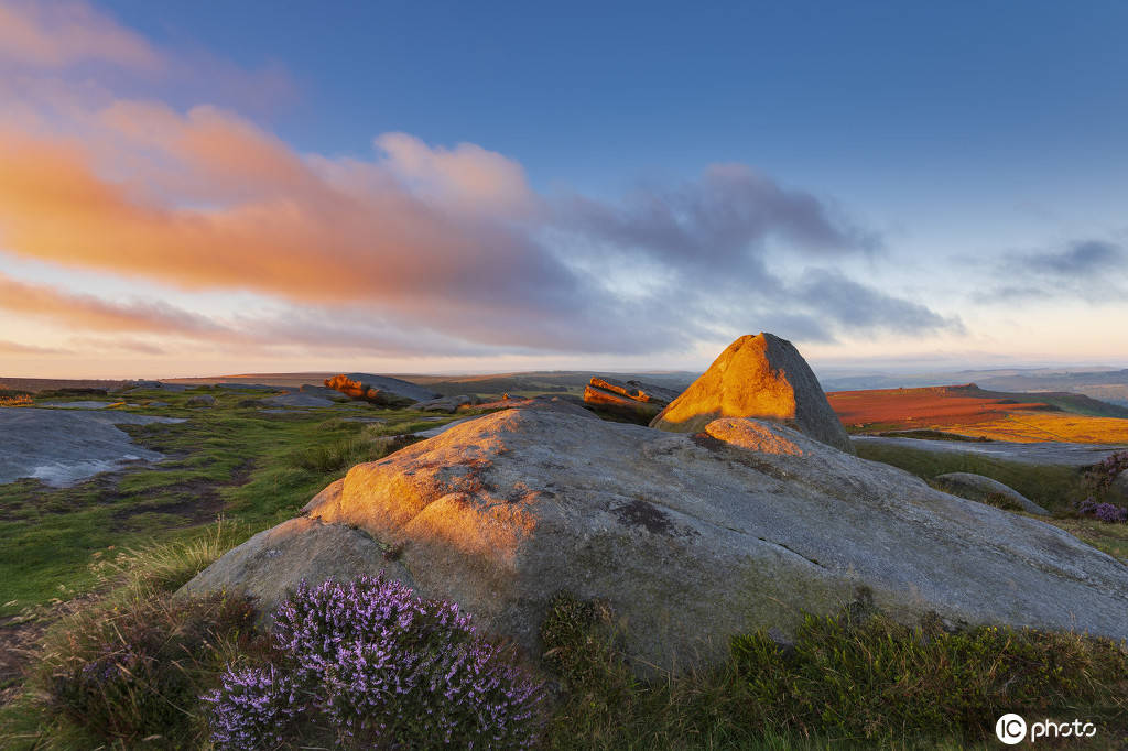
{"type": "Polygon", "coordinates": [[[85,2],[0,0],[0,62],[64,68],[88,61],[142,70],[162,64],[143,37],[85,2]]]}

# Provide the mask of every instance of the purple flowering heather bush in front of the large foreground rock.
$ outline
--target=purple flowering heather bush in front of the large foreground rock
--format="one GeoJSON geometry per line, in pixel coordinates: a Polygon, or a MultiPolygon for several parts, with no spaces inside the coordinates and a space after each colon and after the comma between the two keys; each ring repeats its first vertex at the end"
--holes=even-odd
{"type": "Polygon", "coordinates": [[[220,748],[272,748],[299,715],[362,748],[529,748],[543,687],[469,616],[396,581],[305,582],[275,613],[281,665],[229,672],[205,698],[220,748]],[[292,684],[284,674],[292,677],[292,684]],[[288,680],[288,679],[287,679],[288,680]]]}

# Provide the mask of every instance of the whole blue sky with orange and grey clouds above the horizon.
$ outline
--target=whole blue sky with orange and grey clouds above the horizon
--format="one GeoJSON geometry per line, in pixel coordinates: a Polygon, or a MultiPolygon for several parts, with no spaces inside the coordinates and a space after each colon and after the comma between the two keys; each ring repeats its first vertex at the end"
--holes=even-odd
{"type": "Polygon", "coordinates": [[[0,376],[1128,366],[1121,2],[0,0],[0,376]]]}

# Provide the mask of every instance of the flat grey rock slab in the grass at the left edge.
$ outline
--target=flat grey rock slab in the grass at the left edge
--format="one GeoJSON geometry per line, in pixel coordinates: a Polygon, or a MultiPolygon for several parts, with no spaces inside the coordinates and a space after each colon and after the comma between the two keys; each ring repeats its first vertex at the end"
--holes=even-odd
{"type": "Polygon", "coordinates": [[[33,477],[67,487],[130,461],[160,461],[164,454],[134,444],[115,426],[183,422],[127,412],[0,407],[0,484],[33,477]]]}

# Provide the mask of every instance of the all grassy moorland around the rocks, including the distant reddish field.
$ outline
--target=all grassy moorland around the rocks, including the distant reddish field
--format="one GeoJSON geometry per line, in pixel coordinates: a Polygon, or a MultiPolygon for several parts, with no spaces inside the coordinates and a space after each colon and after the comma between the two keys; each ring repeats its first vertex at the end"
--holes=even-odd
{"type": "MultiPolygon", "coordinates": [[[[0,746],[206,748],[218,736],[200,697],[221,684],[224,670],[261,664],[264,654],[279,664],[293,657],[277,654],[253,602],[175,595],[182,585],[255,533],[300,518],[311,497],[352,467],[425,440],[424,431],[504,409],[505,400],[555,397],[579,406],[592,373],[407,377],[435,394],[470,394],[482,403],[449,413],[270,401],[326,376],[140,387],[7,383],[16,409],[95,400],[105,403],[99,412],[183,422],[120,426],[161,461],[126,462],[62,486],[29,477],[0,485],[0,746]],[[240,388],[252,385],[279,390],[240,388]],[[91,682],[91,671],[107,678],[91,682]]],[[[693,379],[635,376],[679,390],[693,379]]],[[[920,445],[961,439],[1128,445],[1128,409],[1076,395],[962,387],[831,392],[829,401],[852,434],[916,434],[920,445]]],[[[1094,494],[1105,500],[1109,492],[1099,467],[856,445],[861,457],[926,483],[950,472],[1003,481],[1049,511],[1041,521],[1128,562],[1128,524],[1082,511],[1094,494]]],[[[381,566],[390,567],[400,554],[381,555],[381,566]]],[[[733,635],[720,662],[655,675],[632,663],[625,626],[606,603],[562,593],[545,615],[539,654],[511,645],[505,654],[547,687],[534,713],[541,728],[536,743],[547,748],[986,748],[994,717],[1022,708],[1092,718],[1101,727],[1099,748],[1128,740],[1128,656],[1114,640],[906,625],[862,590],[844,594],[840,610],[797,622],[786,639],[766,630],[733,635]]],[[[315,748],[341,740],[324,723],[303,732],[315,748]]],[[[513,745],[534,737],[512,732],[513,745]]]]}

